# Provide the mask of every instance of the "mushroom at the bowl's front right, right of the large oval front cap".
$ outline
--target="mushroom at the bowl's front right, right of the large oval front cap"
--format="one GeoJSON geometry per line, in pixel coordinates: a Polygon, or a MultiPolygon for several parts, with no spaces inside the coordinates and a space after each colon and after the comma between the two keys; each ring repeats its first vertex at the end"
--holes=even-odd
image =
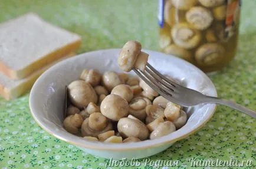
{"type": "Polygon", "coordinates": [[[156,139],[163,136],[166,136],[170,133],[173,133],[176,130],[175,125],[172,123],[172,121],[165,121],[163,123],[160,123],[155,130],[150,133],[150,139],[156,139]]]}

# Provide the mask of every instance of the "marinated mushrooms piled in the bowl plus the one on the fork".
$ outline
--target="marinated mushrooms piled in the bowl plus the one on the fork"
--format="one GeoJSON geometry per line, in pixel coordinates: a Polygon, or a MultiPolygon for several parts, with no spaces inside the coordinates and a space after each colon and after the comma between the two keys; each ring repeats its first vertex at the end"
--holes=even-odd
{"type": "Polygon", "coordinates": [[[185,126],[188,116],[181,106],[127,73],[133,67],[145,69],[149,55],[141,49],[136,41],[123,46],[117,60],[123,73],[84,69],[80,79],[67,85],[65,130],[88,141],[130,143],[167,136],[185,126]]]}

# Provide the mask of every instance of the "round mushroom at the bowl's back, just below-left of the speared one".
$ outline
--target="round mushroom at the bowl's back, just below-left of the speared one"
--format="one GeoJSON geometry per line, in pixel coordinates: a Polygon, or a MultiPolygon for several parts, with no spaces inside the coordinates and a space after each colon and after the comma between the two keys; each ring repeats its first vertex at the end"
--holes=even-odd
{"type": "Polygon", "coordinates": [[[116,87],[117,85],[123,84],[123,80],[120,76],[114,71],[107,71],[102,76],[102,83],[109,92],[116,87]]]}

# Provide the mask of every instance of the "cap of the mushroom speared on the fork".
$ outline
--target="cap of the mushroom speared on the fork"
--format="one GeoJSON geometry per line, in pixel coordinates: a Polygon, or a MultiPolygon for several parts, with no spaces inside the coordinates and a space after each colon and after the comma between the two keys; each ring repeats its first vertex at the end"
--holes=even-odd
{"type": "Polygon", "coordinates": [[[123,48],[120,50],[119,58],[117,63],[125,72],[130,72],[133,69],[134,63],[137,60],[137,55],[139,55],[140,50],[142,50],[142,45],[137,41],[128,41],[124,44],[123,48]]]}

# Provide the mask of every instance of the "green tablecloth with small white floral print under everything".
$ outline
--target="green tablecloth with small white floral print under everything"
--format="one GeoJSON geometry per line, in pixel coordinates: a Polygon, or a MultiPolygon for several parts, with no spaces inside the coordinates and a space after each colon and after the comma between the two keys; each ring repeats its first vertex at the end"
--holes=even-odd
{"type": "MultiPolygon", "coordinates": [[[[254,0],[242,1],[237,57],[221,72],[209,75],[219,96],[254,110],[255,7],[254,0]]],[[[83,37],[83,46],[78,53],[120,48],[130,39],[139,40],[147,49],[158,48],[156,0],[0,0],[0,22],[29,11],[79,33],[83,37]]],[[[9,102],[0,98],[0,121],[0,168],[106,168],[107,160],[84,153],[42,130],[29,112],[28,94],[9,102]]],[[[218,106],[214,117],[201,130],[150,159],[179,160],[180,164],[186,163],[179,168],[191,168],[188,160],[195,157],[201,160],[252,160],[251,167],[243,168],[254,168],[256,121],[228,107],[218,106]]],[[[142,165],[137,168],[155,167],[142,165]]]]}

